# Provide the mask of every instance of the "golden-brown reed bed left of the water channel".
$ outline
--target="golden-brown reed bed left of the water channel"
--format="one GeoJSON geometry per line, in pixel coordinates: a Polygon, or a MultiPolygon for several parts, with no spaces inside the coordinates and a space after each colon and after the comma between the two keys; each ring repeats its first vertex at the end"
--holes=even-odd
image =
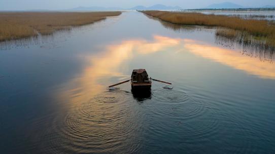
{"type": "Polygon", "coordinates": [[[56,30],[90,24],[121,12],[2,12],[0,41],[51,34],[56,30]]]}

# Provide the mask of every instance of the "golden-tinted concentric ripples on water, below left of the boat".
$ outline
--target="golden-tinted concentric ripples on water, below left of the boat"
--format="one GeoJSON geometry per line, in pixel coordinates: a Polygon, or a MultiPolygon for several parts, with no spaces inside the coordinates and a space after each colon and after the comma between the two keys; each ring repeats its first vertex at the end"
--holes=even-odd
{"type": "Polygon", "coordinates": [[[140,140],[136,139],[135,131],[140,127],[139,115],[132,111],[131,99],[128,92],[118,90],[103,92],[89,102],[74,105],[62,119],[53,121],[54,133],[46,139],[50,141],[50,152],[138,151],[140,140]]]}

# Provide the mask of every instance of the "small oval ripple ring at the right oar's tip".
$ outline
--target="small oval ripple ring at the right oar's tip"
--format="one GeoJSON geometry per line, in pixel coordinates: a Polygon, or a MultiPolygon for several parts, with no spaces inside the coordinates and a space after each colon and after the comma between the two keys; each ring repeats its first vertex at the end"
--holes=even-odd
{"type": "Polygon", "coordinates": [[[180,103],[188,99],[188,95],[182,91],[159,89],[153,91],[153,99],[163,103],[180,103]]]}

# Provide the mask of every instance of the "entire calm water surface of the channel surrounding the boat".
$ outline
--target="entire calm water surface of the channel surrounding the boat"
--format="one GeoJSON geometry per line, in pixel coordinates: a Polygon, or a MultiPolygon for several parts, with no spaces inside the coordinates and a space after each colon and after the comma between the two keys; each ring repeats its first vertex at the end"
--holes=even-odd
{"type": "Polygon", "coordinates": [[[274,56],[125,12],[2,43],[1,153],[274,153],[274,56]],[[132,69],[173,83],[133,96],[132,69]]]}

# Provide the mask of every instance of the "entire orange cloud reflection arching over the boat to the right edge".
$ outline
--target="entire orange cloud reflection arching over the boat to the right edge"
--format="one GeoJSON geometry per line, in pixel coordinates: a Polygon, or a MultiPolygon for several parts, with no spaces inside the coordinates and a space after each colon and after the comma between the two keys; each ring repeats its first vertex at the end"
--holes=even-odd
{"type": "Polygon", "coordinates": [[[83,69],[80,77],[71,82],[74,87],[77,85],[76,88],[70,90],[73,102],[89,100],[93,95],[103,91],[107,84],[111,84],[112,76],[120,76],[121,80],[127,80],[129,74],[120,72],[120,68],[123,67],[126,60],[166,50],[187,50],[195,55],[243,70],[260,78],[275,79],[274,63],[262,62],[258,58],[244,56],[231,49],[195,40],[155,35],[153,41],[142,39],[122,41],[120,44],[107,46],[103,52],[97,55],[85,56],[88,65],[83,69]]]}

